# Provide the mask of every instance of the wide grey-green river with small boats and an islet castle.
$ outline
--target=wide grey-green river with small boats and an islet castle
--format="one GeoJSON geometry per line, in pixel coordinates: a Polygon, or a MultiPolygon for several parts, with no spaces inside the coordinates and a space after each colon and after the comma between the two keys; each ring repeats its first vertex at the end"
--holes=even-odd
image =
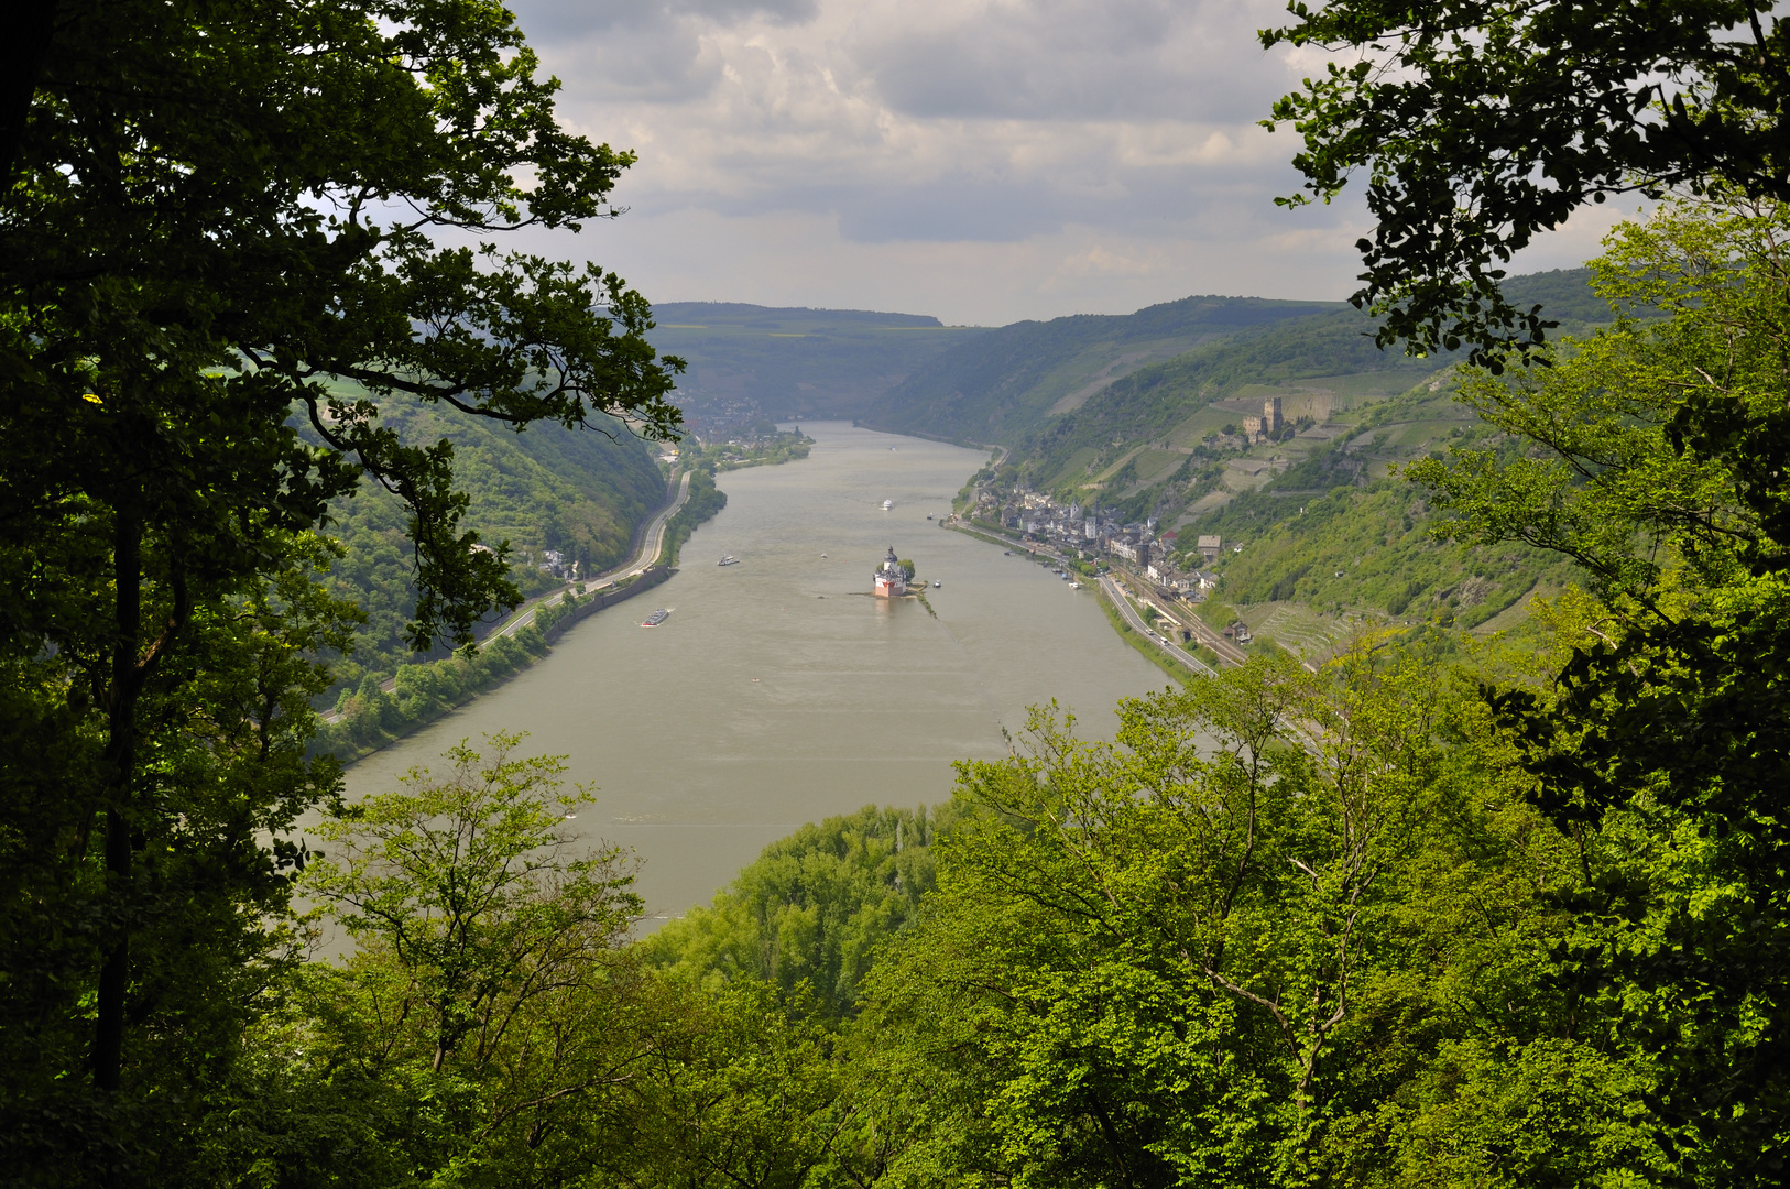
{"type": "Polygon", "coordinates": [[[1169,684],[1092,589],[927,519],[984,455],[847,423],[802,428],[806,460],[720,476],[727,509],[669,582],[360,761],[349,795],[440,765],[462,738],[526,731],[526,750],[564,754],[571,779],[601,790],[575,827],[634,847],[648,913],[678,915],[804,822],[945,800],[952,761],[1004,756],[1002,732],[1017,736],[1031,704],[1056,698],[1083,734],[1112,738],[1119,698],[1169,684]],[[927,580],[936,620],[868,594],[890,544],[927,580]],[[721,553],[741,560],[721,568],[721,553]],[[671,616],[641,630],[653,607],[671,616]]]}

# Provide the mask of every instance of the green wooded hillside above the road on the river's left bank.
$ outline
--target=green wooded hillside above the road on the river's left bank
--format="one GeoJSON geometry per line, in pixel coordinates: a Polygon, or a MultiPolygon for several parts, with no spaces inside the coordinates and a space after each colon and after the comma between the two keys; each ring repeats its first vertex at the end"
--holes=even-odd
{"type": "MultiPolygon", "coordinates": [[[[453,442],[455,478],[471,496],[464,526],[485,544],[510,543],[512,575],[524,594],[557,584],[539,569],[546,550],[576,560],[580,573],[626,559],[635,528],[666,496],[653,453],[619,423],[610,433],[557,424],[516,433],[410,403],[394,403],[385,423],[406,442],[453,442]]],[[[354,655],[335,670],[337,688],[415,659],[403,641],[415,602],[405,523],[399,500],[371,482],[335,510],[328,532],[345,555],[331,584],[367,612],[354,655]]]]}

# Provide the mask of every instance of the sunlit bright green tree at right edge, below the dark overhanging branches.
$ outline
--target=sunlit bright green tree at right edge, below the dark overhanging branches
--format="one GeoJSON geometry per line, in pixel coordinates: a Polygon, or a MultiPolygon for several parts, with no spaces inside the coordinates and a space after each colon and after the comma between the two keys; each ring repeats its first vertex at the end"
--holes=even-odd
{"type": "Polygon", "coordinates": [[[1668,1055],[1650,1108],[1675,1184],[1776,1184],[1790,1148],[1786,238],[1776,204],[1622,227],[1598,290],[1665,319],[1464,387],[1511,444],[1411,471],[1448,535],[1525,539],[1595,580],[1552,688],[1487,695],[1538,804],[1590,847],[1559,956],[1622,988],[1629,1046],[1668,1055]]]}

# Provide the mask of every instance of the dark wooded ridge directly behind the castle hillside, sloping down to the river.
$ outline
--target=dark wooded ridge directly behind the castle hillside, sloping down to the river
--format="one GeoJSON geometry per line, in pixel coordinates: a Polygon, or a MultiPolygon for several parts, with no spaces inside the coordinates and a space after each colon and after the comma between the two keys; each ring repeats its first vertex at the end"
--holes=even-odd
{"type": "Polygon", "coordinates": [[[1183,297],[1126,315],[1015,322],[954,346],[890,389],[865,424],[974,442],[1013,442],[1115,380],[1214,338],[1337,310],[1339,303],[1183,297]]]}

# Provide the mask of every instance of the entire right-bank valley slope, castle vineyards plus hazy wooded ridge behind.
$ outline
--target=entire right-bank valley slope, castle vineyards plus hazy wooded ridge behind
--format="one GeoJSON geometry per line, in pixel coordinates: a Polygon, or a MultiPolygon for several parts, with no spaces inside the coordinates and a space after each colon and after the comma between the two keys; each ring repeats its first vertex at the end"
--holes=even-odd
{"type": "MultiPolygon", "coordinates": [[[[1548,272],[1507,292],[1543,304],[1561,324],[1554,335],[1584,335],[1613,317],[1588,281],[1584,269],[1548,272]]],[[[1511,627],[1527,594],[1573,580],[1556,555],[1436,541],[1428,492],[1398,476],[1412,458],[1495,441],[1455,399],[1459,356],[1380,351],[1373,322],[1346,304],[1194,297],[1131,317],[1171,308],[1212,333],[1092,383],[1088,319],[1002,328],[940,355],[874,415],[1006,446],[1004,466],[965,491],[965,512],[984,525],[1011,530],[1026,498],[1049,498],[1153,526],[1158,559],[1215,575],[1203,618],[1240,618],[1301,655],[1375,623],[1511,627]],[[1244,419],[1273,401],[1285,428],[1249,441],[1244,419]],[[1196,552],[1199,535],[1223,537],[1217,560],[1196,552]]],[[[1126,333],[1099,340],[1104,358],[1126,333]]]]}

